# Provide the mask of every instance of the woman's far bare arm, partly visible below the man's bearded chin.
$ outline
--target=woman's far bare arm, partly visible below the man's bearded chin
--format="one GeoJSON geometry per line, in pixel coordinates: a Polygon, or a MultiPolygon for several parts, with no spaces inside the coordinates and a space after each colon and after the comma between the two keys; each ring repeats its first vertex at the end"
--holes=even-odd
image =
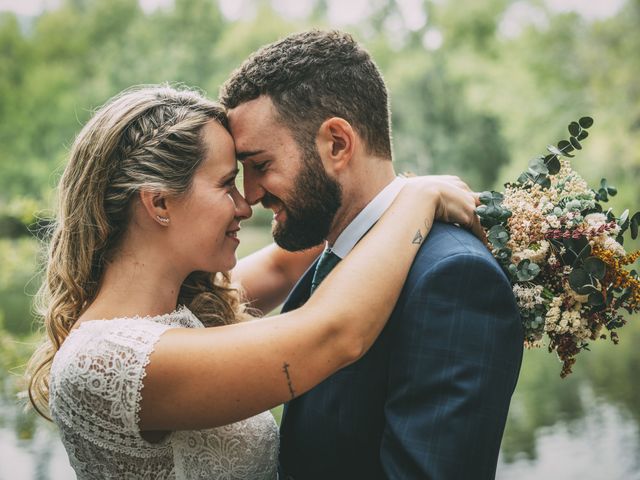
{"type": "Polygon", "coordinates": [[[275,243],[241,259],[231,272],[251,307],[266,314],[280,305],[324,245],[288,252],[275,243]]]}

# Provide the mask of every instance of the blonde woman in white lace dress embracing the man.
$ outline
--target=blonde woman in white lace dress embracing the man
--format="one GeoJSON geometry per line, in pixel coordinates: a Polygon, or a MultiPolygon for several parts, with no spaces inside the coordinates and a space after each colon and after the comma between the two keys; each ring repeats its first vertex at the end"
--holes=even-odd
{"type": "Polygon", "coordinates": [[[268,410],[371,346],[416,231],[476,221],[459,180],[407,181],[303,307],[253,318],[243,301],[281,301],[319,251],[267,247],[233,280],[269,298],[234,288],[251,216],[237,173],[224,111],[189,90],[127,90],[76,138],[40,291],[47,339],[28,374],[79,479],[276,478],[268,410]]]}

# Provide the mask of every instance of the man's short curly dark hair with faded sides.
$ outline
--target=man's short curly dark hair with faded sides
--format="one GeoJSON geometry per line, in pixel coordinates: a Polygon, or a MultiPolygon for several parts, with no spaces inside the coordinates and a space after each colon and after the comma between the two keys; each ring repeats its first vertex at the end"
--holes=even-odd
{"type": "Polygon", "coordinates": [[[391,159],[387,88],[378,67],[351,35],[311,30],[262,47],[220,89],[228,109],[268,95],[300,146],[315,149],[322,122],[347,120],[368,151],[391,159]]]}

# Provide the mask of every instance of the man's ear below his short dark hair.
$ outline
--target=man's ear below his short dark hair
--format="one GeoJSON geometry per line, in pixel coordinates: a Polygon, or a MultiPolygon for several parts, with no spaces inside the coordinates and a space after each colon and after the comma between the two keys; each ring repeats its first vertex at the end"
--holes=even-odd
{"type": "Polygon", "coordinates": [[[316,145],[328,173],[340,173],[349,165],[355,144],[355,130],[344,118],[332,117],[320,125],[316,145]]]}

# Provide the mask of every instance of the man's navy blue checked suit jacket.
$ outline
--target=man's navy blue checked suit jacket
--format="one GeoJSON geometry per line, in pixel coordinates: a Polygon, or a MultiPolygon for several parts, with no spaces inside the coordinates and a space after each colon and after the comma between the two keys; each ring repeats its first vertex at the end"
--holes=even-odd
{"type": "MultiPolygon", "coordinates": [[[[308,299],[313,268],[283,311],[308,299]]],[[[522,345],[504,272],[436,223],[371,349],[285,406],[280,478],[494,478],[522,345]]]]}

